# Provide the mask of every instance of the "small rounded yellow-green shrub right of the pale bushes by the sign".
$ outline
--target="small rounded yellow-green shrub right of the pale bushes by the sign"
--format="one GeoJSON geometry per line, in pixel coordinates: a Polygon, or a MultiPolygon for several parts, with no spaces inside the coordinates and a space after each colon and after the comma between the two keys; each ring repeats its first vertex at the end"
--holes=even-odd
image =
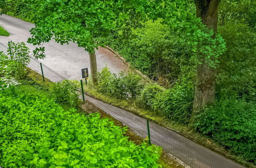
{"type": "Polygon", "coordinates": [[[163,91],[164,89],[157,84],[148,85],[142,90],[140,99],[145,106],[150,106],[151,108],[153,108],[153,104],[157,101],[156,95],[163,91]]]}

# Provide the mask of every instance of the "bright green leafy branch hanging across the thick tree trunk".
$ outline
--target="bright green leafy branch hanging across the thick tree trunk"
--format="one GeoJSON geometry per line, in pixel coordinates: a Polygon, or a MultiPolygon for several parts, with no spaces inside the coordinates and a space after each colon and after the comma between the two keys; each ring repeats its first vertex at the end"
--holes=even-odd
{"type": "Polygon", "coordinates": [[[213,29],[203,24],[202,18],[196,17],[196,11],[191,11],[190,1],[167,0],[159,6],[162,7],[161,13],[156,16],[163,18],[163,23],[172,31],[179,32],[191,46],[191,51],[196,53],[195,61],[202,64],[201,57],[204,57],[205,62],[216,68],[219,56],[226,50],[226,43],[219,34],[215,35],[213,29]]]}

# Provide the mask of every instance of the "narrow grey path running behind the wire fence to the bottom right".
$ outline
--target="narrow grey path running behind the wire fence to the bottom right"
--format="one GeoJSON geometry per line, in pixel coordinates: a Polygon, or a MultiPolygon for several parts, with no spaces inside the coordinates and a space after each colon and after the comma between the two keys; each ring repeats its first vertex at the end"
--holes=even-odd
{"type": "MultiPolygon", "coordinates": [[[[143,138],[147,136],[145,119],[136,116],[129,111],[104,103],[87,95],[86,100],[110,114],[124,125],[130,127],[136,134],[143,138]]],[[[164,150],[191,167],[243,167],[242,165],[233,162],[178,133],[153,122],[150,122],[150,132],[152,143],[163,147],[164,150]]]]}

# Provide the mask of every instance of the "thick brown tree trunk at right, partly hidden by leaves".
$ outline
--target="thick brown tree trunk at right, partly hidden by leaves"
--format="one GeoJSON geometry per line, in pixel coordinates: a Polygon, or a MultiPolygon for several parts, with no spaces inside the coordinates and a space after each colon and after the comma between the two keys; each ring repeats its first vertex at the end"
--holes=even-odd
{"type": "MultiPolygon", "coordinates": [[[[195,0],[197,17],[201,17],[203,24],[209,29],[217,31],[218,6],[221,0],[195,0]]],[[[215,34],[212,38],[215,38],[215,34]]],[[[205,62],[203,54],[198,55],[197,81],[191,120],[203,109],[215,100],[215,69],[205,62]]]]}

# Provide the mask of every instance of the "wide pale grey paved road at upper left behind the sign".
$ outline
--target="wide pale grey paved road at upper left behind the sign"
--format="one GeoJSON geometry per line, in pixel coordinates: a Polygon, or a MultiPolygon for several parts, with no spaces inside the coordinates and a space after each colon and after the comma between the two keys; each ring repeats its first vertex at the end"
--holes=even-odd
{"type": "MultiPolygon", "coordinates": [[[[34,27],[32,23],[8,15],[0,16],[0,25],[10,33],[9,37],[0,36],[0,42],[5,45],[10,40],[27,42],[31,37],[29,30],[34,27]]],[[[35,48],[32,44],[28,44],[28,46],[30,49],[35,48]]],[[[47,57],[40,61],[62,76],[68,79],[80,79],[82,68],[89,68],[90,72],[88,52],[75,43],[60,45],[52,40],[44,46],[47,57]]],[[[96,57],[98,70],[105,66],[108,66],[113,73],[127,69],[126,65],[105,48],[100,47],[96,51],[96,57]]]]}

